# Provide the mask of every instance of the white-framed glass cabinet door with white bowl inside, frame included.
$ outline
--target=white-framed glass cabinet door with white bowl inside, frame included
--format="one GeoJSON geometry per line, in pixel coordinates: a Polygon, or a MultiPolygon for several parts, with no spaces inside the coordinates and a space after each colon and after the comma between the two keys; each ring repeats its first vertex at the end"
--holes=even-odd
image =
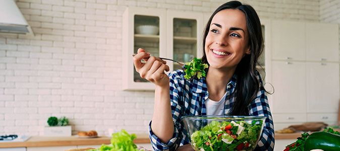
{"type": "MultiPolygon", "coordinates": [[[[138,48],[153,56],[166,57],[166,11],[152,8],[128,7],[123,14],[122,31],[122,89],[153,91],[154,84],[140,77],[132,54],[138,48]]],[[[145,63],[145,62],[144,62],[145,63]]]]}

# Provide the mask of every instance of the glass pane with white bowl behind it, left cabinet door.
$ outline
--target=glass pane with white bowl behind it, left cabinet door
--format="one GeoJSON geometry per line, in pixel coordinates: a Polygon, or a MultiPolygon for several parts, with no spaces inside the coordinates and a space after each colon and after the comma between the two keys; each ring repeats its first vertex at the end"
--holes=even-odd
{"type": "MultiPolygon", "coordinates": [[[[159,57],[159,17],[135,15],[134,17],[134,53],[143,48],[152,56],[159,57]]],[[[149,82],[140,77],[134,69],[134,82],[149,82]]]]}

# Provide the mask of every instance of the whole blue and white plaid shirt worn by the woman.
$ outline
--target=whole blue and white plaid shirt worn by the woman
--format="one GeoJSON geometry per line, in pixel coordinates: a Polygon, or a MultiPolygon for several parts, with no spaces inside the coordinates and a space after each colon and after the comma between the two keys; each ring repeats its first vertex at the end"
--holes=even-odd
{"type": "MultiPolygon", "coordinates": [[[[149,136],[152,143],[152,147],[155,150],[176,150],[180,145],[189,143],[189,137],[187,131],[184,128],[182,116],[186,115],[206,115],[206,108],[204,101],[208,99],[208,91],[205,78],[202,77],[199,80],[188,81],[184,78],[183,70],[176,70],[169,73],[170,78],[170,100],[171,109],[174,120],[174,134],[173,138],[167,143],[162,143],[159,138],[151,131],[151,122],[149,123],[149,136]]],[[[260,137],[259,142],[255,150],[273,150],[274,148],[274,126],[268,105],[267,96],[263,88],[263,83],[259,73],[257,72],[257,78],[260,82],[260,90],[257,93],[257,98],[253,100],[249,108],[249,115],[251,116],[264,116],[265,125],[260,137]]],[[[234,75],[226,88],[226,97],[235,90],[236,75],[234,75]]],[[[233,107],[235,98],[225,100],[224,114],[229,115],[230,110],[233,107]]]]}

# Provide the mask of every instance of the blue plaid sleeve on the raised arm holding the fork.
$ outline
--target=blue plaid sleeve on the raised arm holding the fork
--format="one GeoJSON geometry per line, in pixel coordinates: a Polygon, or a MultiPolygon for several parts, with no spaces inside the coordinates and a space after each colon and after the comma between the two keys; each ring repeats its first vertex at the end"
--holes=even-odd
{"type": "Polygon", "coordinates": [[[153,134],[151,130],[151,122],[149,124],[149,137],[151,140],[152,147],[155,151],[157,150],[176,150],[181,143],[182,138],[184,137],[182,133],[181,127],[181,110],[182,107],[179,105],[182,101],[182,89],[181,89],[181,79],[179,79],[179,75],[176,71],[169,73],[170,79],[170,100],[171,100],[171,110],[173,114],[173,121],[174,121],[174,134],[173,138],[171,138],[168,142],[163,143],[160,139],[153,134]]]}

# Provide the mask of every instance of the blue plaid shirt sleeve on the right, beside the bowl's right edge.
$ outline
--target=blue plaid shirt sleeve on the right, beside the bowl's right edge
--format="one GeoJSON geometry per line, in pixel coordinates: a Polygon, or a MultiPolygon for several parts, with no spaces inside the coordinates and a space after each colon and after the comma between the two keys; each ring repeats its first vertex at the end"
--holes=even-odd
{"type": "Polygon", "coordinates": [[[254,101],[252,101],[249,106],[249,114],[252,116],[264,116],[266,117],[266,119],[264,122],[265,125],[263,127],[260,140],[257,143],[255,150],[271,151],[274,149],[275,143],[273,120],[271,117],[266,92],[259,74],[258,79],[260,82],[260,90],[257,93],[257,98],[254,101]]]}

